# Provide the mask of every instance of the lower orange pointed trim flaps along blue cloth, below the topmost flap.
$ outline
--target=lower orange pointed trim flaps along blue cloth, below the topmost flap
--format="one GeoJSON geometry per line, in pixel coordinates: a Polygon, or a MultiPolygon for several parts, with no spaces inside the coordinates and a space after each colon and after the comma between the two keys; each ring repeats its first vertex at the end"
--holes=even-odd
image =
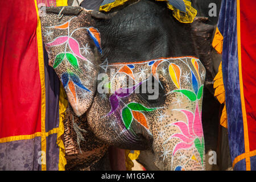
{"type": "Polygon", "coordinates": [[[228,128],[228,117],[226,114],[226,105],[225,105],[225,88],[224,88],[224,83],[222,78],[222,62],[218,67],[218,73],[213,80],[214,80],[213,88],[215,89],[214,96],[217,98],[220,104],[224,104],[224,108],[222,110],[221,119],[220,119],[220,125],[225,128],[228,128]]]}

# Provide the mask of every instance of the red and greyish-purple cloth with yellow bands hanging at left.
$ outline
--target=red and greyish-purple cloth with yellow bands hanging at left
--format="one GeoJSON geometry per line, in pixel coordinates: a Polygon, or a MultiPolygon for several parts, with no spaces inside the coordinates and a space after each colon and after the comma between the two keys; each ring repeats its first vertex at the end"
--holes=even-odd
{"type": "Polygon", "coordinates": [[[0,5],[0,169],[64,169],[64,101],[56,73],[45,64],[38,2],[0,5]]]}

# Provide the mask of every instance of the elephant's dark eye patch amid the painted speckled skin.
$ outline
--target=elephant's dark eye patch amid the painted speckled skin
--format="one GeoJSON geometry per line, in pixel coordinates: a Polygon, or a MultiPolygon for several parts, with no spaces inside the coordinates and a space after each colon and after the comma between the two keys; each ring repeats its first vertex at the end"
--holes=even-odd
{"type": "Polygon", "coordinates": [[[139,93],[139,97],[146,100],[148,104],[152,106],[164,104],[166,99],[164,87],[155,77],[149,77],[147,81],[142,82],[138,89],[135,93],[139,93]]]}

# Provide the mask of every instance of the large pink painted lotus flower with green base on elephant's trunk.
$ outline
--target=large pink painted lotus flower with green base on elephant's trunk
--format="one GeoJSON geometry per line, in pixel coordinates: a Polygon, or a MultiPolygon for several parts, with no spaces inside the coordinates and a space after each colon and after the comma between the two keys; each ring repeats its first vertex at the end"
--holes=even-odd
{"type": "Polygon", "coordinates": [[[203,126],[201,122],[201,113],[199,112],[199,105],[196,104],[195,114],[188,110],[179,110],[185,114],[187,117],[187,123],[182,121],[177,121],[172,123],[179,127],[181,133],[176,133],[170,137],[179,138],[181,142],[177,143],[174,147],[172,155],[181,149],[186,149],[192,147],[195,144],[197,151],[200,154],[201,163],[203,165],[204,156],[204,137],[203,137],[203,126]]]}

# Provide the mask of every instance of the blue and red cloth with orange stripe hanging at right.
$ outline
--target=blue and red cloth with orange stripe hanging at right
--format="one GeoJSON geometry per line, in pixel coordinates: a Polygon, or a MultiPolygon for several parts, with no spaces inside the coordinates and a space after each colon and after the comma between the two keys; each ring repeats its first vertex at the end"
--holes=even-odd
{"type": "MultiPolygon", "coordinates": [[[[256,169],[256,18],[254,1],[222,0],[218,35],[223,36],[222,78],[234,170],[256,169]]],[[[218,47],[218,46],[217,46],[218,47]]],[[[221,49],[218,50],[221,52],[221,49]]]]}

